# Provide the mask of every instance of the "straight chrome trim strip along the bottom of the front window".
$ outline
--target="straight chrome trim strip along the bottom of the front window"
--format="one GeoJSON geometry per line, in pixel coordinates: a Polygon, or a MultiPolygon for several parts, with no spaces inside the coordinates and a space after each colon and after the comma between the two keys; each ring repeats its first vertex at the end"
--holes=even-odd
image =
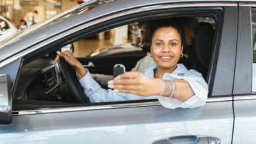
{"type": "MultiPolygon", "coordinates": [[[[232,97],[224,98],[208,98],[207,103],[211,102],[221,102],[221,101],[232,101],[232,97]]],[[[119,109],[119,108],[129,108],[129,107],[150,107],[161,105],[158,100],[150,102],[139,102],[139,103],[121,103],[113,105],[95,105],[95,106],[77,106],[77,107],[59,107],[59,108],[43,108],[43,109],[33,109],[27,111],[13,111],[12,115],[34,115],[43,113],[63,113],[72,111],[92,111],[100,109],[119,109]]]]}

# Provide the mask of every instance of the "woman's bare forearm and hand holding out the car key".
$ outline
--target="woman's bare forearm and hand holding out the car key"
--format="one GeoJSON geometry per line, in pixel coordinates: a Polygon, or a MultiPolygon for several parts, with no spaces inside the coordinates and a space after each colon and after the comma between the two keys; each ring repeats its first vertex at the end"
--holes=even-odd
{"type": "Polygon", "coordinates": [[[139,96],[158,95],[168,97],[175,90],[173,98],[181,101],[194,95],[188,82],[182,79],[173,80],[173,82],[175,84],[174,89],[170,81],[153,79],[138,72],[127,72],[119,75],[116,80],[108,82],[108,87],[114,88],[118,92],[131,93],[139,96]]]}

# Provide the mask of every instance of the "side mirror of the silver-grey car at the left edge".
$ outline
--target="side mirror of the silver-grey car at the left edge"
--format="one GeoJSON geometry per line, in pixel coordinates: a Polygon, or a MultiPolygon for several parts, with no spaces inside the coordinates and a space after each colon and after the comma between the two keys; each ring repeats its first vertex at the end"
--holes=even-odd
{"type": "Polygon", "coordinates": [[[0,124],[12,122],[12,96],[9,75],[0,75],[0,124]]]}

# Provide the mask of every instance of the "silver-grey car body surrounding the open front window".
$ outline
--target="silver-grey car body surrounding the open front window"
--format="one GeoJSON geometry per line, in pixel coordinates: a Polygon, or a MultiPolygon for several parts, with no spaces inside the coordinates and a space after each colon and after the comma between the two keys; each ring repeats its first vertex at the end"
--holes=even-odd
{"type": "MultiPolygon", "coordinates": [[[[0,122],[6,124],[0,126],[0,143],[255,143],[251,26],[255,6],[255,1],[91,0],[13,35],[0,44],[0,122]],[[17,86],[28,81],[20,77],[23,63],[95,31],[165,16],[211,16],[216,21],[205,78],[209,94],[203,107],[165,109],[157,99],[100,105],[12,102],[17,86]],[[12,111],[12,106],[20,108],[12,111]]],[[[106,65],[122,60],[135,65],[142,56],[125,57],[126,61],[118,56],[79,60],[95,73],[110,74],[106,65]]]]}

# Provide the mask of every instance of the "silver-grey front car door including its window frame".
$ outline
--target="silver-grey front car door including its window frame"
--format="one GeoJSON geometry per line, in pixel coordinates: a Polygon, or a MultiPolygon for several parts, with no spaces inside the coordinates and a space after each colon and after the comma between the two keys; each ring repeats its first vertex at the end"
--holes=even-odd
{"type": "MultiPolygon", "coordinates": [[[[184,11],[196,7],[220,14],[208,73],[209,98],[203,107],[166,109],[153,100],[24,109],[13,112],[11,125],[0,126],[1,143],[232,143],[237,3],[156,6],[184,11]]],[[[132,9],[123,16],[145,9],[156,7],[132,9]]]]}

